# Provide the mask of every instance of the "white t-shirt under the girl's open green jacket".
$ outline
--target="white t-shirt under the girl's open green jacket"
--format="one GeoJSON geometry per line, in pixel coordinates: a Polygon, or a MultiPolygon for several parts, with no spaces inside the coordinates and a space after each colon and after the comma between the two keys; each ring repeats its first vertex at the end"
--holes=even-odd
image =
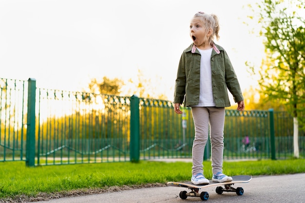
{"type": "MultiPolygon", "coordinates": [[[[198,48],[197,48],[198,49],[198,48]]],[[[198,51],[201,54],[200,59],[200,93],[199,103],[193,107],[215,107],[212,92],[212,72],[211,72],[211,54],[213,48],[198,51]]]]}

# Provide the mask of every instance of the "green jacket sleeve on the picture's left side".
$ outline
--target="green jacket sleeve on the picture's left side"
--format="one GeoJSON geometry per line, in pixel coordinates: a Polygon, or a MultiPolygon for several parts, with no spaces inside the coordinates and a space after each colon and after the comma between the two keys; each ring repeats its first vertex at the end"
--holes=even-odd
{"type": "Polygon", "coordinates": [[[183,52],[179,61],[177,78],[175,82],[174,104],[182,104],[184,100],[186,86],[185,62],[185,52],[183,52]]]}

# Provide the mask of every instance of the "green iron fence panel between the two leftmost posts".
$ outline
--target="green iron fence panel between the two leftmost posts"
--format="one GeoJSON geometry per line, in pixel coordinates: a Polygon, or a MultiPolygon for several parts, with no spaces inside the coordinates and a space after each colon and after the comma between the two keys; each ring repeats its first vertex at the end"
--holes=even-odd
{"type": "Polygon", "coordinates": [[[37,89],[37,164],[127,161],[130,98],[37,89]]]}

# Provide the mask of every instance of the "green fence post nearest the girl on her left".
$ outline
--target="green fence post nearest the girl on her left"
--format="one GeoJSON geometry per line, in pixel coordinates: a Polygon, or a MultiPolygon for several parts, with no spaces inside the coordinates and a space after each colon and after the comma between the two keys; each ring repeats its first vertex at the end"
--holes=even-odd
{"type": "Polygon", "coordinates": [[[130,101],[130,161],[140,160],[140,99],[136,95],[130,101]]]}

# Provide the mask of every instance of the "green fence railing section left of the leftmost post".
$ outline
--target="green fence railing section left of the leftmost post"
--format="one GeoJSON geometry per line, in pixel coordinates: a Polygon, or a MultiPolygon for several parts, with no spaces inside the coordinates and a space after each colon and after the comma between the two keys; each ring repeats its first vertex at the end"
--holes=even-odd
{"type": "Polygon", "coordinates": [[[0,78],[0,161],[25,160],[27,82],[0,78]]]}

